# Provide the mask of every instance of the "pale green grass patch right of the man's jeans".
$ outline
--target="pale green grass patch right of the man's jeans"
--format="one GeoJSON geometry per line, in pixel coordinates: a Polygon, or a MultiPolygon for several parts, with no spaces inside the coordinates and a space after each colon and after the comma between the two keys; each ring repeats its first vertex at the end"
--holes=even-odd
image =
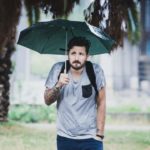
{"type": "Polygon", "coordinates": [[[105,150],[149,150],[150,135],[147,131],[106,132],[105,150]]]}

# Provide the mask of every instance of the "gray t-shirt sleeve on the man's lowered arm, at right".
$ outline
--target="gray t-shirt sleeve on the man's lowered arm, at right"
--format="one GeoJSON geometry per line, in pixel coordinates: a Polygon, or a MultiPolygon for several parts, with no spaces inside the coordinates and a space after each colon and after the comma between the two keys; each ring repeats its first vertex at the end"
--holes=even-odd
{"type": "Polygon", "coordinates": [[[98,64],[94,64],[93,67],[96,75],[97,89],[100,90],[102,87],[106,86],[104,71],[98,64]]]}

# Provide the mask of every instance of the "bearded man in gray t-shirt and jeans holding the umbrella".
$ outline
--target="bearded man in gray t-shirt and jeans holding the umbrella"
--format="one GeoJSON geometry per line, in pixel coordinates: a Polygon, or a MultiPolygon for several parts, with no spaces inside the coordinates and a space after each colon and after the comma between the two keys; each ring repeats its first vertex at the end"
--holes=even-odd
{"type": "MultiPolygon", "coordinates": [[[[92,64],[98,93],[86,71],[90,42],[74,37],[68,44],[68,73],[56,63],[47,78],[47,105],[57,101],[57,149],[103,150],[105,126],[105,78],[98,64],[92,64]]],[[[94,77],[93,77],[94,78],[94,77]]]]}

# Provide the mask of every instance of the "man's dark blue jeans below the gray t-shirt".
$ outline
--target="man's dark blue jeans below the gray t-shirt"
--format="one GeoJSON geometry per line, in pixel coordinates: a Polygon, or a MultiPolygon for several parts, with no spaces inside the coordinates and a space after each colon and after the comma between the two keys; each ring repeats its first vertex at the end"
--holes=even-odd
{"type": "Polygon", "coordinates": [[[57,150],[103,150],[103,142],[94,138],[69,139],[57,135],[57,150]]]}

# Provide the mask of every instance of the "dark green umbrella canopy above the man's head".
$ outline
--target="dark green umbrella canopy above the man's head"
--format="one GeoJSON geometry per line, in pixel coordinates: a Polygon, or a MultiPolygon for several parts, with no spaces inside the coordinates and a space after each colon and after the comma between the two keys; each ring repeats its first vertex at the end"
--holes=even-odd
{"type": "Polygon", "coordinates": [[[74,36],[86,37],[91,42],[90,55],[110,53],[115,42],[101,29],[86,22],[56,19],[24,29],[18,44],[41,54],[64,55],[68,41],[74,36]]]}

